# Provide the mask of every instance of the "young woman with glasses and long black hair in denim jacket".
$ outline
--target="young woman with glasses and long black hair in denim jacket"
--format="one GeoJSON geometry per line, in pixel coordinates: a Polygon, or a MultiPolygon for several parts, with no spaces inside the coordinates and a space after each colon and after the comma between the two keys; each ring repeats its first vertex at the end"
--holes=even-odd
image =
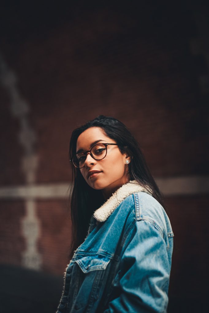
{"type": "Polygon", "coordinates": [[[100,115],[72,132],[70,159],[72,260],[57,313],[166,312],[174,234],[137,141],[100,115]]]}

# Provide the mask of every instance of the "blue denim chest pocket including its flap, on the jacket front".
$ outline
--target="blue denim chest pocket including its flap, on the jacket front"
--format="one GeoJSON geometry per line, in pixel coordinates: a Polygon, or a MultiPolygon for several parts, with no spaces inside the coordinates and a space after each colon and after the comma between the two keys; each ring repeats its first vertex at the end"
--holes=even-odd
{"type": "Polygon", "coordinates": [[[110,259],[101,255],[75,260],[72,273],[72,312],[90,312],[102,294],[110,259]]]}

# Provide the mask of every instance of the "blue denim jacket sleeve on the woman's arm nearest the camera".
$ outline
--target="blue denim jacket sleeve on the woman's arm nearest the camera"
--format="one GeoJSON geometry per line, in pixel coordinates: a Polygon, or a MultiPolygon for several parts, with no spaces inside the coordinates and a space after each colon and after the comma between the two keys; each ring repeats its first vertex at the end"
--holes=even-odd
{"type": "Polygon", "coordinates": [[[166,312],[170,276],[167,245],[152,222],[136,221],[118,274],[121,293],[104,313],[166,312]]]}

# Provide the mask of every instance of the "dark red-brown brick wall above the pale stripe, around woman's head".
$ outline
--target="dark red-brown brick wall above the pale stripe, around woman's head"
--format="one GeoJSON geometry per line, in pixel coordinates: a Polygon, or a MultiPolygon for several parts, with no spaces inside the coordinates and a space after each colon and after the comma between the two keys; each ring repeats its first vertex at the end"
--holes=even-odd
{"type": "MultiPolygon", "coordinates": [[[[99,114],[117,117],[133,131],[154,175],[206,174],[207,109],[198,85],[198,62],[190,52],[195,21],[191,13],[183,18],[179,12],[178,23],[170,15],[166,24],[171,13],[165,11],[165,18],[155,9],[162,25],[159,20],[149,28],[145,24],[144,32],[133,13],[98,8],[56,28],[43,28],[42,35],[25,38],[20,33],[20,41],[12,41],[9,33],[4,38],[3,56],[17,75],[37,135],[37,182],[69,180],[70,134],[99,114]]],[[[2,93],[2,127],[8,129],[9,122],[7,138],[14,141],[18,123],[7,118],[8,95],[2,93]]],[[[3,140],[1,183],[22,182],[22,151],[17,143],[3,140]],[[12,144],[17,146],[15,157],[12,144]],[[14,177],[9,175],[12,168],[14,177]]]]}

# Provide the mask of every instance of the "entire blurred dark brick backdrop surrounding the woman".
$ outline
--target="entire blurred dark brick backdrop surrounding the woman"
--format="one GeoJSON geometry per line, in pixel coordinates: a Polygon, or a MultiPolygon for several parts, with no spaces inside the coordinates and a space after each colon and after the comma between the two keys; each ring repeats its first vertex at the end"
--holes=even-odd
{"type": "Polygon", "coordinates": [[[69,263],[72,130],[140,143],[174,231],[169,312],[205,312],[209,6],[1,2],[0,312],[55,312],[69,263]]]}

